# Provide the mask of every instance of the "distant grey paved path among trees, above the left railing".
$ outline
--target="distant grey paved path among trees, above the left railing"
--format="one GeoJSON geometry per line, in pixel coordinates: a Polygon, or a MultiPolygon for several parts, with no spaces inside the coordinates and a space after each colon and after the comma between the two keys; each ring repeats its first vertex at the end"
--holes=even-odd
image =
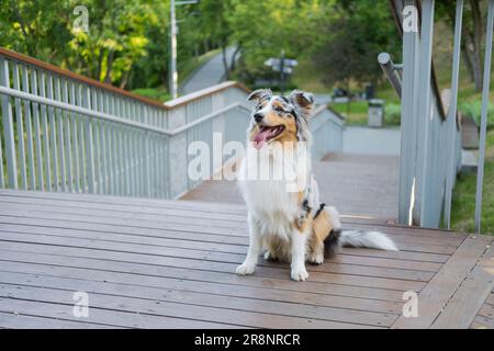
{"type": "MultiPolygon", "coordinates": [[[[232,60],[232,55],[234,52],[235,47],[229,47],[226,49],[228,64],[232,60]]],[[[181,94],[188,94],[222,82],[225,76],[223,54],[220,53],[211,58],[192,75],[193,76],[179,88],[181,94]]]]}

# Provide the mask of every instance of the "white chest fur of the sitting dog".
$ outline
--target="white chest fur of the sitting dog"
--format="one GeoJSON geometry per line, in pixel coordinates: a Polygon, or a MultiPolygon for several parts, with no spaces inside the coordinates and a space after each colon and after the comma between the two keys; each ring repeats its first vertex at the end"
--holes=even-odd
{"type": "Polygon", "coordinates": [[[303,191],[306,186],[310,171],[306,155],[300,155],[304,151],[296,152],[292,157],[247,148],[238,172],[238,184],[262,235],[277,235],[287,240],[290,238],[300,210],[297,190],[303,191]],[[300,160],[303,165],[299,163],[300,160]],[[269,170],[278,173],[273,174],[269,170]]]}

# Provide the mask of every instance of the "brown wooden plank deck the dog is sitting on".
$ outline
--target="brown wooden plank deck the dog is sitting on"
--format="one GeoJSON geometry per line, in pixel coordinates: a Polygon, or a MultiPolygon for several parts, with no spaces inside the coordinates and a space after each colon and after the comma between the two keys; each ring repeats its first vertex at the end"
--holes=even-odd
{"type": "Polygon", "coordinates": [[[307,282],[247,250],[243,205],[0,191],[0,327],[493,327],[492,237],[345,218],[400,252],[344,249],[307,282]],[[417,318],[402,316],[418,293],[417,318]],[[89,317],[72,314],[89,294],[89,317]]]}

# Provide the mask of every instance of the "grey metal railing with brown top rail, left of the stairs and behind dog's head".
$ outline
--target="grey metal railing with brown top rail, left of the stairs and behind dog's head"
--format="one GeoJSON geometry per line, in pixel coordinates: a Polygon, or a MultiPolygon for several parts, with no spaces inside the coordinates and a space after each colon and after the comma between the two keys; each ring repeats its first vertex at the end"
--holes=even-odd
{"type": "MultiPolygon", "coordinates": [[[[245,141],[247,95],[224,82],[162,104],[0,48],[0,188],[180,196],[201,182],[188,177],[192,141],[245,141]]],[[[316,110],[317,156],[340,150],[337,120],[316,110]]]]}

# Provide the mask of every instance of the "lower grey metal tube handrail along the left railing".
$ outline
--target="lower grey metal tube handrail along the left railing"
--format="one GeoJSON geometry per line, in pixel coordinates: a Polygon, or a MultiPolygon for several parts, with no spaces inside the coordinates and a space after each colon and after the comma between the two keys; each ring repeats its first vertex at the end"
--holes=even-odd
{"type": "Polygon", "coordinates": [[[55,100],[49,100],[46,98],[42,98],[38,95],[34,95],[34,94],[30,94],[23,91],[19,91],[19,90],[14,90],[14,89],[10,89],[10,88],[5,88],[5,87],[1,87],[0,86],[0,94],[7,94],[10,95],[12,98],[19,98],[22,100],[29,100],[31,102],[35,102],[35,103],[40,103],[40,104],[44,104],[44,105],[48,105],[52,107],[56,107],[56,109],[61,109],[61,110],[66,110],[69,112],[74,112],[74,113],[79,113],[79,114],[83,114],[87,116],[91,116],[94,118],[99,118],[105,122],[112,122],[112,123],[117,123],[117,124],[122,124],[122,125],[126,125],[130,127],[134,127],[134,128],[139,128],[139,129],[144,129],[147,132],[153,132],[153,133],[157,133],[157,134],[161,134],[161,135],[166,135],[166,136],[173,136],[177,135],[179,133],[182,133],[187,129],[190,129],[191,127],[203,123],[207,120],[211,120],[222,113],[225,113],[226,111],[236,109],[236,107],[240,107],[244,109],[246,111],[250,111],[247,107],[245,107],[240,102],[236,102],[233,104],[229,104],[223,109],[216,110],[213,113],[206,114],[203,117],[195,120],[192,123],[186,124],[181,127],[178,127],[176,129],[165,129],[165,128],[157,128],[157,127],[153,127],[149,126],[147,124],[143,124],[143,123],[137,123],[137,122],[132,122],[131,120],[124,120],[121,118],[119,116],[115,115],[111,115],[108,113],[103,113],[103,112],[98,112],[98,111],[93,111],[93,110],[89,110],[89,109],[85,109],[85,107],[80,107],[80,106],[76,106],[76,105],[71,105],[65,102],[59,102],[59,101],[55,101],[55,100]]]}

